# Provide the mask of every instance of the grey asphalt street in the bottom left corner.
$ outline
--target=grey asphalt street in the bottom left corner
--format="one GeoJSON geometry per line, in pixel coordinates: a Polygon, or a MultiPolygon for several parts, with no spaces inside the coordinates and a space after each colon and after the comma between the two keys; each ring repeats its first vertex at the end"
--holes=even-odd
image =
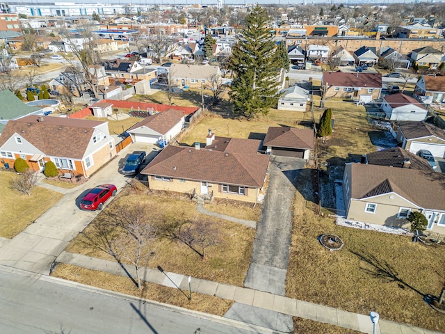
{"type": "Polygon", "coordinates": [[[0,333],[273,333],[264,328],[0,267],[0,333]]]}

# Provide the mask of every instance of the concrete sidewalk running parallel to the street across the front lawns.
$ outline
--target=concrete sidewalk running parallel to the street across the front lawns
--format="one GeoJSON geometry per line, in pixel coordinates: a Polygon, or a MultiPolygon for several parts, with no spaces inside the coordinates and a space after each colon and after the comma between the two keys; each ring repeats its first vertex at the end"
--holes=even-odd
{"type": "MultiPolygon", "coordinates": [[[[96,257],[89,257],[86,255],[67,253],[63,251],[57,257],[56,262],[72,264],[74,266],[83,267],[86,269],[104,271],[112,273],[113,275],[126,276],[126,273],[124,273],[117,262],[102,260],[96,257]]],[[[131,276],[135,277],[133,267],[128,266],[126,269],[131,276]]],[[[188,276],[170,272],[165,272],[165,274],[163,274],[156,269],[149,268],[140,269],[140,273],[142,279],[147,282],[175,288],[175,285],[173,285],[172,282],[165,276],[166,274],[173,282],[175,282],[177,286],[188,294],[188,276]]],[[[280,296],[277,294],[270,294],[268,292],[261,292],[259,290],[244,287],[236,287],[234,285],[217,283],[210,280],[202,280],[200,278],[191,278],[191,290],[192,293],[197,292],[200,294],[208,294],[209,296],[217,296],[222,299],[235,301],[234,305],[250,305],[258,310],[269,310],[278,312],[280,315],[290,315],[293,317],[311,319],[343,328],[350,328],[354,331],[359,331],[362,333],[373,333],[373,324],[371,323],[371,319],[368,315],[359,315],[357,313],[347,312],[337,308],[330,308],[324,305],[308,303],[307,301],[299,301],[298,299],[291,299],[289,297],[280,296]]],[[[280,317],[278,317],[277,320],[280,320],[280,317]]],[[[433,334],[439,332],[380,319],[376,328],[376,333],[433,334]]]]}

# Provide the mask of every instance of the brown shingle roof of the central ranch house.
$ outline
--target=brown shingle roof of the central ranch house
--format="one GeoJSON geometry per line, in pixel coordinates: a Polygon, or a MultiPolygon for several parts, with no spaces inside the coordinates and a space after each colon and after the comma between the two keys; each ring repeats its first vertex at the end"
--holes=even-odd
{"type": "MultiPolygon", "coordinates": [[[[260,143],[252,139],[236,141],[245,141],[245,147],[253,146],[248,141],[255,142],[257,148],[260,143]]],[[[259,188],[264,183],[268,161],[269,156],[257,154],[257,150],[234,153],[169,145],[141,173],[259,188]]]]}

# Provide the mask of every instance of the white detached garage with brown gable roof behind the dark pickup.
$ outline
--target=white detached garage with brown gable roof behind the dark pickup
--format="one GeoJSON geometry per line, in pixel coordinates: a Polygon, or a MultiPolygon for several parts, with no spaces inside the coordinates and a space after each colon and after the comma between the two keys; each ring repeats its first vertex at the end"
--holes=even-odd
{"type": "Polygon", "coordinates": [[[150,115],[133,125],[128,133],[133,143],[158,143],[171,141],[181,132],[185,123],[183,111],[168,109],[150,115]]]}

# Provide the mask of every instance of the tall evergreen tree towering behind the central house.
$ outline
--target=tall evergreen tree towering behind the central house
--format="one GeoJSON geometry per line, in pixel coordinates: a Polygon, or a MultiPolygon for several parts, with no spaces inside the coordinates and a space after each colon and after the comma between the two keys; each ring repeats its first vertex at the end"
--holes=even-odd
{"type": "Polygon", "coordinates": [[[232,49],[230,68],[235,78],[229,94],[236,116],[253,118],[260,112],[266,115],[277,104],[283,62],[268,21],[266,10],[254,6],[232,49]]]}

